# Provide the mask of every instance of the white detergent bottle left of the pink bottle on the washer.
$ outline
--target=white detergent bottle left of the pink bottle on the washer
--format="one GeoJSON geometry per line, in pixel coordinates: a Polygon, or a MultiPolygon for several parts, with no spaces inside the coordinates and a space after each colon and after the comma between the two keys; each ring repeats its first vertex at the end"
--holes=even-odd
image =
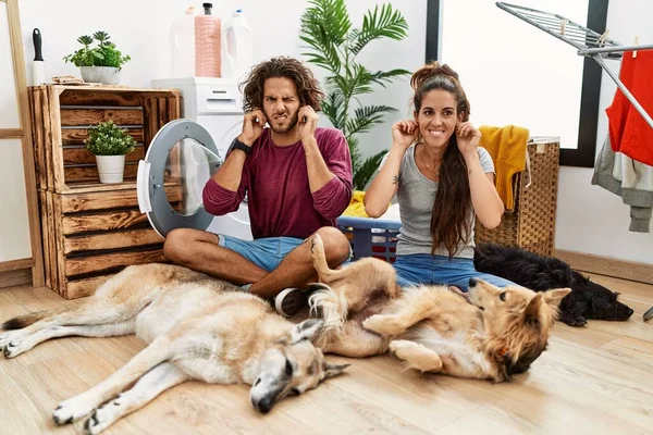
{"type": "Polygon", "coordinates": [[[195,15],[194,7],[186,9],[170,27],[170,76],[195,76],[195,15]]]}

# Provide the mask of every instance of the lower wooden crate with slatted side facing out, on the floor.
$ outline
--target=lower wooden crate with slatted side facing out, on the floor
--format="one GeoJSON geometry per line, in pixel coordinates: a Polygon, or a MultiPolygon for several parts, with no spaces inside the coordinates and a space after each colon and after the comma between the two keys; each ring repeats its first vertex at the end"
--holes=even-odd
{"type": "Polygon", "coordinates": [[[41,189],[39,199],[46,285],[66,299],[91,295],[130,264],[167,261],[135,188],[72,195],[41,189]]]}

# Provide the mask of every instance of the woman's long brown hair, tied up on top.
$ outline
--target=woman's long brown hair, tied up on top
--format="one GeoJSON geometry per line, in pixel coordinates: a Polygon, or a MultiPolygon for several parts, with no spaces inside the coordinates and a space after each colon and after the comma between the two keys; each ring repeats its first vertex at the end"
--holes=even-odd
{"type": "MultiPolygon", "coordinates": [[[[415,89],[412,102],[419,113],[423,97],[431,90],[445,90],[456,99],[456,115],[469,120],[469,101],[458,82],[458,74],[447,65],[431,62],[418,70],[410,78],[415,89]]],[[[444,245],[452,258],[458,246],[467,244],[471,233],[471,192],[467,177],[467,164],[458,149],[456,133],[452,135],[440,164],[440,181],[431,212],[431,253],[444,245]]]]}

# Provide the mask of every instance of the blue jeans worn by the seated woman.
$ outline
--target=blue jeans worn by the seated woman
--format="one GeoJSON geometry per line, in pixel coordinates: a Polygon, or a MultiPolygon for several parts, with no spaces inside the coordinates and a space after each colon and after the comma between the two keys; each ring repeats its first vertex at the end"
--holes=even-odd
{"type": "Polygon", "coordinates": [[[467,291],[469,278],[480,278],[497,287],[515,285],[502,277],[477,272],[472,259],[461,259],[430,253],[411,253],[397,256],[394,268],[397,271],[397,284],[409,287],[419,284],[453,285],[467,291]]]}

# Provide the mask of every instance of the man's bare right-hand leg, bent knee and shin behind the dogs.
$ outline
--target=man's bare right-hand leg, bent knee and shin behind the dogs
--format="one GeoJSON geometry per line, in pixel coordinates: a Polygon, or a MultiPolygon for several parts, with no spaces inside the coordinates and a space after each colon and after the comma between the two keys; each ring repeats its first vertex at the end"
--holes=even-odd
{"type": "MultiPolygon", "coordinates": [[[[330,268],[342,264],[349,257],[349,240],[337,228],[325,226],[316,232],[324,243],[324,252],[330,268]]],[[[249,293],[262,298],[272,298],[288,287],[303,288],[316,282],[318,274],[312,265],[310,237],[283,259],[279,266],[255,281],[249,293]]]]}

